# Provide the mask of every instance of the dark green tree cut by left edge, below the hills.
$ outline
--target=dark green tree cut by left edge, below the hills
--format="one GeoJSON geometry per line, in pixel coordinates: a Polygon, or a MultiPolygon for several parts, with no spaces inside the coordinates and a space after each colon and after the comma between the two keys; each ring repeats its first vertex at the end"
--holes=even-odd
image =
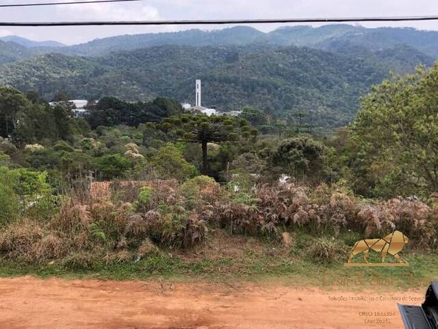
{"type": "Polygon", "coordinates": [[[30,101],[18,90],[0,87],[0,136],[8,137],[18,124],[18,113],[29,108],[30,101]]]}

